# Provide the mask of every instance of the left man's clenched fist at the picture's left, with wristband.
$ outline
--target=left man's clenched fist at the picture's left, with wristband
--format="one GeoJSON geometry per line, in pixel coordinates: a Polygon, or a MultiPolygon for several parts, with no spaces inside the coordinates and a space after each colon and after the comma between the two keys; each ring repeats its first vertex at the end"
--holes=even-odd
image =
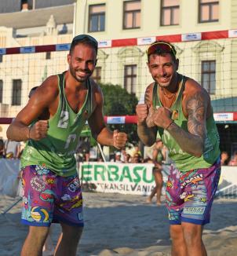
{"type": "Polygon", "coordinates": [[[39,120],[31,126],[29,130],[29,139],[39,141],[42,138],[47,136],[47,131],[49,129],[49,122],[48,120],[39,120]]]}

